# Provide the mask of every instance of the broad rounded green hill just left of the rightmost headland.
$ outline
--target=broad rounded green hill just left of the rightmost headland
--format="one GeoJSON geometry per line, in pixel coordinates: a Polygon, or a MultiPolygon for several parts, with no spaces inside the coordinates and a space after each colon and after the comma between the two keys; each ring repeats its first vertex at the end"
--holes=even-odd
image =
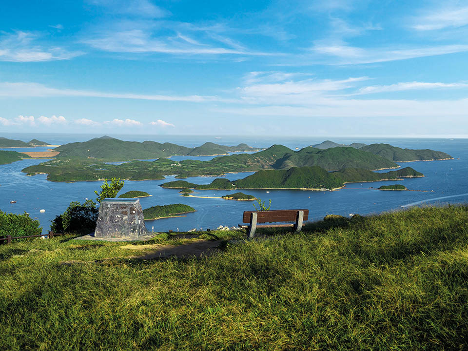
{"type": "Polygon", "coordinates": [[[274,169],[289,169],[291,167],[319,166],[327,170],[339,170],[346,167],[370,170],[398,167],[396,163],[388,159],[361,150],[351,147],[333,147],[323,150],[307,147],[284,155],[272,167],[274,169]]]}

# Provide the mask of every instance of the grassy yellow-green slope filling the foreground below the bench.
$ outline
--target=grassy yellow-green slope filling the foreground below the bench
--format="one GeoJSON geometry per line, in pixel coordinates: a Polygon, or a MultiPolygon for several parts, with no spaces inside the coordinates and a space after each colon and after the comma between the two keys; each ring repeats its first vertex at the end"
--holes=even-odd
{"type": "Polygon", "coordinates": [[[0,349],[467,349],[467,217],[337,217],[198,260],[70,237],[1,245],[0,349]]]}

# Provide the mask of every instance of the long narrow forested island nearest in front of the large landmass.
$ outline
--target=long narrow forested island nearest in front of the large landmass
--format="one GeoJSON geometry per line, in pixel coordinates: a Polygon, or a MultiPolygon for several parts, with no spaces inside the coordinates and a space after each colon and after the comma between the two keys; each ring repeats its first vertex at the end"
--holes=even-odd
{"type": "Polygon", "coordinates": [[[404,177],[423,177],[422,173],[410,167],[376,173],[359,168],[345,168],[337,172],[327,172],[318,167],[292,167],[289,170],[265,170],[258,171],[243,179],[230,181],[225,178],[217,178],[210,184],[195,184],[185,180],[176,180],[163,183],[163,188],[188,188],[197,190],[219,189],[308,189],[308,190],[333,190],[352,182],[373,182],[381,180],[398,180],[404,177]]]}

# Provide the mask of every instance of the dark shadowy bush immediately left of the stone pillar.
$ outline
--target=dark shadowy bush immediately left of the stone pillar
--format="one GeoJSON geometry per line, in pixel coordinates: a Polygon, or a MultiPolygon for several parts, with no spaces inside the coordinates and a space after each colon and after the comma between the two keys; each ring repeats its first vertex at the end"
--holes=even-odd
{"type": "Polygon", "coordinates": [[[83,204],[72,201],[62,215],[52,220],[50,230],[55,233],[86,235],[96,230],[99,210],[96,203],[87,200],[83,204]]]}

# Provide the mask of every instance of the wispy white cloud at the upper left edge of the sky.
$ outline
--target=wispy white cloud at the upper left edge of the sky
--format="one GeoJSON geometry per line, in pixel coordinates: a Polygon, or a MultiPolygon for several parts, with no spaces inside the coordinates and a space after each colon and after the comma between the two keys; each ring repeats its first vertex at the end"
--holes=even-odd
{"type": "Polygon", "coordinates": [[[0,36],[0,61],[38,62],[73,59],[83,53],[36,43],[38,35],[16,31],[0,36]]]}

